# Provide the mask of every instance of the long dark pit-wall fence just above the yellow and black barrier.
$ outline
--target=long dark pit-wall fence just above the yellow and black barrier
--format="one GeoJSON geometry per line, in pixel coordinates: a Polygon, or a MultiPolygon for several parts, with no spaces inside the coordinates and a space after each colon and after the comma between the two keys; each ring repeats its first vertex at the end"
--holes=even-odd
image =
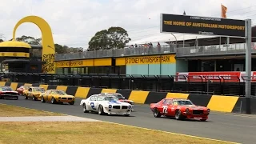
{"type": "MultiPolygon", "coordinates": [[[[42,74],[0,73],[5,82],[41,83],[61,86],[86,86],[98,88],[182,92],[190,94],[245,94],[245,81],[237,76],[231,80],[186,78],[176,75],[130,75],[130,74],[42,74]],[[176,82],[184,78],[183,82],[176,82]]],[[[256,95],[256,82],[252,82],[251,94],[256,95]]]]}

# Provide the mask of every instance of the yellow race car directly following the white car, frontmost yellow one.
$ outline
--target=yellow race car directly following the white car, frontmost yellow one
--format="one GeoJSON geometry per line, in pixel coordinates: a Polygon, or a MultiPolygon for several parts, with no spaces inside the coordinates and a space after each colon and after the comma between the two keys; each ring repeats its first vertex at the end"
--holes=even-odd
{"type": "Polygon", "coordinates": [[[41,102],[63,103],[68,102],[70,105],[74,105],[74,96],[66,94],[63,90],[46,90],[41,95],[41,102]]]}

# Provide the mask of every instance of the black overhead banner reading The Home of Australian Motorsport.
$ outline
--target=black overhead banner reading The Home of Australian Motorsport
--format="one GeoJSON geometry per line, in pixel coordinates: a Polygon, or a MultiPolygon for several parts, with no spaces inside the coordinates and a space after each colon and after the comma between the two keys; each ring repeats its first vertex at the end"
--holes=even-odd
{"type": "Polygon", "coordinates": [[[245,37],[246,22],[227,18],[161,14],[161,33],[209,34],[245,37]]]}

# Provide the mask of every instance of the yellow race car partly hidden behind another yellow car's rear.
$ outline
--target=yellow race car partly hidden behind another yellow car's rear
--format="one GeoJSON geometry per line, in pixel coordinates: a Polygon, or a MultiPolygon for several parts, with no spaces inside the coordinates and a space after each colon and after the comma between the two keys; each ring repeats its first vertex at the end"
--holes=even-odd
{"type": "Polygon", "coordinates": [[[29,90],[24,92],[25,99],[32,98],[34,101],[41,100],[41,95],[44,94],[46,90],[42,87],[32,86],[29,90]]]}

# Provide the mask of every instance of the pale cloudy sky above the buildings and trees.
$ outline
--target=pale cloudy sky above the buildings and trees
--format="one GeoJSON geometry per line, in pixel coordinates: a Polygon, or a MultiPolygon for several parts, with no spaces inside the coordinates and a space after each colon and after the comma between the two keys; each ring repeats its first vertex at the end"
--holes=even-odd
{"type": "MultiPolygon", "coordinates": [[[[0,37],[12,38],[15,24],[29,15],[49,23],[54,43],[88,47],[97,31],[121,26],[128,31],[130,43],[168,41],[170,34],[160,33],[160,14],[221,17],[221,4],[227,7],[227,18],[252,19],[256,24],[253,0],[0,0],[0,37]]],[[[18,27],[16,37],[41,38],[33,23],[18,27]]]]}

